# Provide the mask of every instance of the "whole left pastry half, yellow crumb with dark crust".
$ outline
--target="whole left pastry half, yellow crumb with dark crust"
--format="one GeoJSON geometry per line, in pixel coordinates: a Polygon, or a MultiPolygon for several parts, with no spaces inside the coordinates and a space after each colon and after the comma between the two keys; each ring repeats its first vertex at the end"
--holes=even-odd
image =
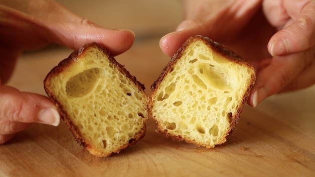
{"type": "Polygon", "coordinates": [[[62,60],[44,87],[75,139],[96,156],[108,156],[144,136],[149,115],[144,86],[97,43],[62,60]]]}

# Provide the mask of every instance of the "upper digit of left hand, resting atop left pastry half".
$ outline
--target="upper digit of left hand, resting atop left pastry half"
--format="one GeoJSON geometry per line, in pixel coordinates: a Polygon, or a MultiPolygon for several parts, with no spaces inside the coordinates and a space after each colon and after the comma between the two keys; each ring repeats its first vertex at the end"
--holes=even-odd
{"type": "Polygon", "coordinates": [[[0,5],[10,20],[4,18],[5,27],[0,31],[9,33],[5,35],[13,42],[7,42],[11,48],[17,44],[23,49],[36,49],[48,43],[58,43],[72,49],[89,43],[98,42],[104,45],[113,55],[120,54],[129,49],[134,40],[134,33],[130,30],[105,29],[82,18],[56,1],[29,0],[17,5],[6,2],[0,5]],[[7,4],[6,4],[7,3],[7,4]],[[30,42],[32,41],[32,42],[30,42]],[[26,44],[24,44],[26,43],[26,44]]]}

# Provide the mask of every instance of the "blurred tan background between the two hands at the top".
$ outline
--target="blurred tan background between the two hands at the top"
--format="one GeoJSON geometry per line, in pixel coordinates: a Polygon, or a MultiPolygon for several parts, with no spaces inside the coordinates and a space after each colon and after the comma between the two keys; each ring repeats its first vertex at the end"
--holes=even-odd
{"type": "Polygon", "coordinates": [[[136,39],[162,37],[182,21],[181,0],[57,0],[106,28],[130,29],[136,39]]]}

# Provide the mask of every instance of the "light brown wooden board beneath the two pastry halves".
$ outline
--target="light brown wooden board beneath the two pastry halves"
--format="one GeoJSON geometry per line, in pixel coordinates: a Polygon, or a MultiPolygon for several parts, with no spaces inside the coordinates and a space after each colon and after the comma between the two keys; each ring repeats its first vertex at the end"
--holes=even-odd
{"type": "MultiPolygon", "coordinates": [[[[45,94],[44,77],[70,52],[24,54],[9,84],[45,94]]],[[[147,88],[170,59],[158,39],[138,41],[116,58],[147,88]]],[[[0,145],[0,176],[315,176],[314,102],[312,86],[245,106],[227,142],[210,149],[166,138],[150,120],[143,139],[106,158],[77,144],[63,122],[33,124],[0,145]]]]}

